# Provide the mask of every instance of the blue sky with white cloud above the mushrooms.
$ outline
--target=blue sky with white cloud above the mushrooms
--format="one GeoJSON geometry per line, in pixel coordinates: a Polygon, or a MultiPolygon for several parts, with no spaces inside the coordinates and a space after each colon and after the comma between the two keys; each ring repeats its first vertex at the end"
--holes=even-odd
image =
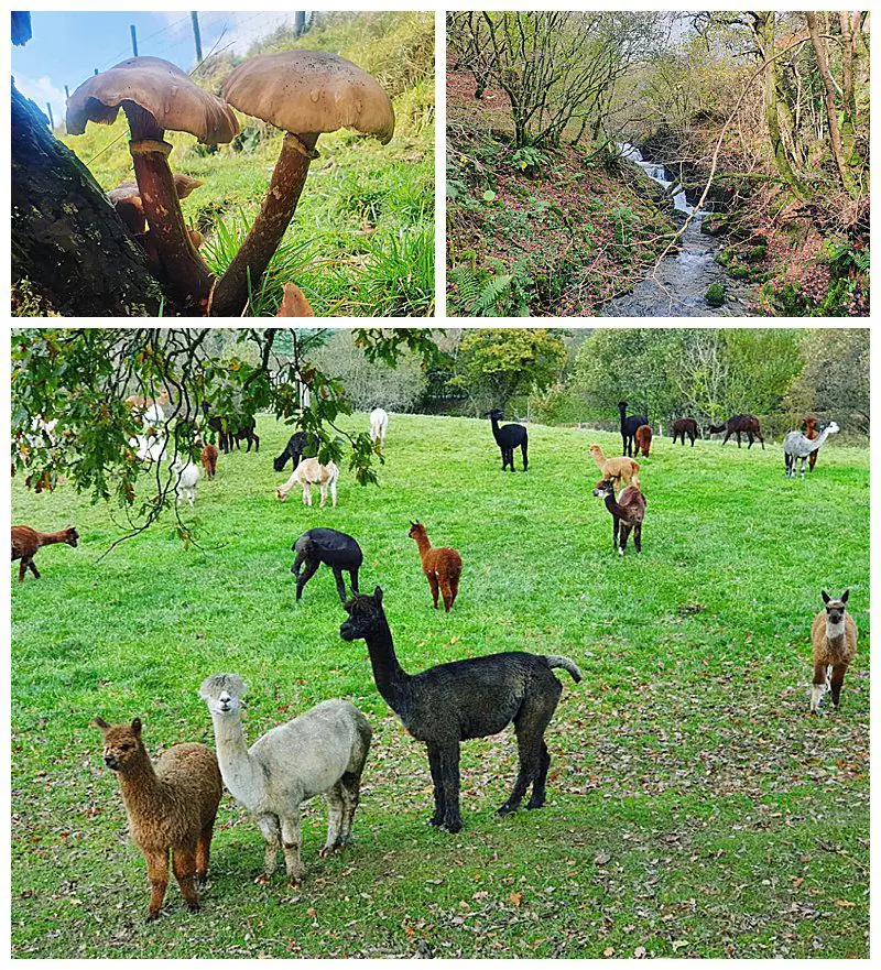
{"type": "MultiPolygon", "coordinates": [[[[203,54],[231,50],[244,54],[253,41],[292,22],[293,9],[280,13],[199,11],[203,54]]],[[[64,118],[64,86],[70,92],[97,67],[104,70],[131,57],[129,24],[138,32],[138,53],[164,57],[184,70],[196,63],[193,28],[187,11],[54,12],[31,13],[33,36],[23,47],[12,47],[12,75],[19,90],[46,110],[52,103],[56,124],[64,118]]]]}

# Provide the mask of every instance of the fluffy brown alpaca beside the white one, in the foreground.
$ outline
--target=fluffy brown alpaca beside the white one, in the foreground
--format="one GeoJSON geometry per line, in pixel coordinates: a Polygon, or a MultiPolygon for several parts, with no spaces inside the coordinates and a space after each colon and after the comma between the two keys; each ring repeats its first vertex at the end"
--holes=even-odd
{"type": "Polygon", "coordinates": [[[191,913],[198,912],[196,881],[208,879],[208,857],[217,806],[224,794],[215,753],[204,744],[175,744],[150,761],[141,741],[141,720],[108,724],[95,718],[104,732],[105,764],[119,773],[122,800],[132,841],[146,860],[150,908],[146,922],[159,918],[172,871],[191,913]]]}

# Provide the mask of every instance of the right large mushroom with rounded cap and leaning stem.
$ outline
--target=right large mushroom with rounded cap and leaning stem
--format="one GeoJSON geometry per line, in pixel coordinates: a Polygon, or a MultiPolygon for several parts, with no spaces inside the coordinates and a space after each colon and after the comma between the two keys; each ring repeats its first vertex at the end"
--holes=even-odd
{"type": "Polygon", "coordinates": [[[251,231],[217,284],[211,313],[241,313],[293,218],[323,132],[348,128],[387,144],[394,132],[389,96],[360,67],[324,51],[285,51],[242,62],[224,98],[286,132],[267,197],[251,231]]]}

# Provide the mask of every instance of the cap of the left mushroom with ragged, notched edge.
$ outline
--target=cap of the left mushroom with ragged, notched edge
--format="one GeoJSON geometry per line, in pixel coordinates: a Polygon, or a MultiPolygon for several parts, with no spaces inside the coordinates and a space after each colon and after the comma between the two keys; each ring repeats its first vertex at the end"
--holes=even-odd
{"type": "Polygon", "coordinates": [[[160,128],[188,131],[205,144],[232,141],[239,122],[228,105],[204,91],[161,57],[130,57],[84,81],[67,102],[67,131],[86,123],[112,124],[123,101],[149,111],[160,128]]]}

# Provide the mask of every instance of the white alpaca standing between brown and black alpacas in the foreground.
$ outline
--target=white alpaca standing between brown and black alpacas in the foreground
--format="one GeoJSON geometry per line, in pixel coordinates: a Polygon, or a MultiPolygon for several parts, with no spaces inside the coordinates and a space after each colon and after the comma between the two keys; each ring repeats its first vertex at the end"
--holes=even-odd
{"type": "Polygon", "coordinates": [[[367,718],[348,700],[325,700],[248,748],[241,727],[246,689],[238,674],[215,674],[203,683],[199,695],[214,722],[224,784],[254,814],[265,841],[263,872],[257,882],[269,882],[281,848],[287,879],[296,885],[305,872],[300,860],[300,806],[325,795],[329,810],[322,855],[340,851],[351,833],[372,732],[367,718]]]}

